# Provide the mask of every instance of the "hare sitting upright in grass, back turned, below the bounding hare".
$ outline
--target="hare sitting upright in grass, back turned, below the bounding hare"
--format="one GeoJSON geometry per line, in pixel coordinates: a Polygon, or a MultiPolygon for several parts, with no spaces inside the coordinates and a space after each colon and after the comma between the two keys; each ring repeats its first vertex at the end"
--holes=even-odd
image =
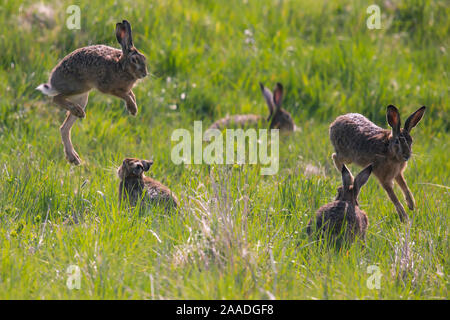
{"type": "Polygon", "coordinates": [[[306,229],[309,236],[315,232],[337,247],[350,245],[356,237],[365,241],[369,222],[367,214],[358,206],[358,194],[371,172],[372,165],[369,165],[353,179],[347,167],[342,166],[342,186],[338,188],[336,199],[317,210],[306,229]]]}

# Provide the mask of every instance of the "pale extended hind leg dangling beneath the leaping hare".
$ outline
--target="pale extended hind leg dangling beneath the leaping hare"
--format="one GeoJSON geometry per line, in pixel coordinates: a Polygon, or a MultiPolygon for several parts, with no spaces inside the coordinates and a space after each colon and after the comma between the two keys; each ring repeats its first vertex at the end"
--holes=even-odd
{"type": "MultiPolygon", "coordinates": [[[[68,97],[67,99],[71,100],[73,103],[77,103],[84,110],[86,108],[88,102],[89,93],[83,93],[81,95],[76,95],[72,97],[68,97]]],[[[61,132],[62,142],[64,144],[64,153],[66,154],[66,159],[75,165],[81,164],[81,159],[78,153],[75,151],[72,145],[72,140],[70,138],[70,131],[72,129],[73,124],[77,121],[77,117],[74,116],[71,112],[67,112],[67,117],[64,120],[63,124],[59,128],[61,132]]]]}

